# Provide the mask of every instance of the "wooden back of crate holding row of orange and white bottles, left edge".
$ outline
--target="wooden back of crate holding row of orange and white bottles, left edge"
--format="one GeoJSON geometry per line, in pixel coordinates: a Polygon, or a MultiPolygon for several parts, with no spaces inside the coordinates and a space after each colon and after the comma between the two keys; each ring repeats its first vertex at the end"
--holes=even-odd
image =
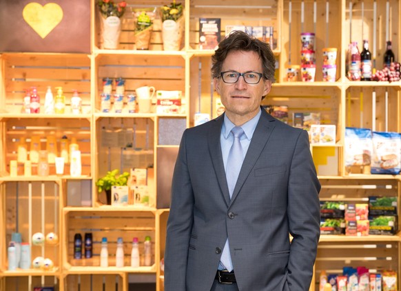
{"type": "MultiPolygon", "coordinates": [[[[81,150],[82,174],[91,173],[91,142],[90,142],[90,121],[86,119],[9,119],[5,121],[5,154],[6,165],[9,171],[10,160],[17,160],[17,149],[21,137],[25,137],[28,148],[28,159],[31,137],[41,137],[41,149],[46,149],[46,137],[55,136],[57,141],[58,154],[60,156],[60,140],[63,135],[71,141],[76,138],[81,150]]],[[[23,175],[23,163],[18,165],[18,174],[23,175]]],[[[32,174],[37,174],[37,164],[32,163],[32,174]]],[[[50,174],[56,174],[54,164],[50,164],[50,174]]],[[[70,163],[65,163],[64,174],[70,174],[70,163]]]]}

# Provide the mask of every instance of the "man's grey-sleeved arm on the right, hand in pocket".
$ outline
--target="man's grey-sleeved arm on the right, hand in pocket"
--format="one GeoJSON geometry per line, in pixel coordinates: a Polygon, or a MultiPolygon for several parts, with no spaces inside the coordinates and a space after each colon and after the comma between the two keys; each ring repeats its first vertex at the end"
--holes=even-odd
{"type": "Polygon", "coordinates": [[[289,232],[293,240],[287,283],[291,290],[309,290],[320,237],[320,183],[305,130],[298,137],[288,187],[289,232]]]}

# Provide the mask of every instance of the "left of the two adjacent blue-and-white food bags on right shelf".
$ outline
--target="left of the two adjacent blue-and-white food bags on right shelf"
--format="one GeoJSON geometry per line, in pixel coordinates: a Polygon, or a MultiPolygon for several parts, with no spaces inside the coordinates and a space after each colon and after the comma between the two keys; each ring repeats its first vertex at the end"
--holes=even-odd
{"type": "Polygon", "coordinates": [[[345,166],[370,165],[372,151],[369,128],[345,128],[345,166]]]}

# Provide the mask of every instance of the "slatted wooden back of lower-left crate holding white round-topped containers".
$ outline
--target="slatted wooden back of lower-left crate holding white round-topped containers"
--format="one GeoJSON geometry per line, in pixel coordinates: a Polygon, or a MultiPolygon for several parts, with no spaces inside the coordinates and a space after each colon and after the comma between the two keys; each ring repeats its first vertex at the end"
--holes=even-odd
{"type": "MultiPolygon", "coordinates": [[[[23,242],[30,241],[29,227],[32,235],[41,232],[46,236],[50,232],[59,237],[60,213],[59,213],[59,186],[54,182],[6,182],[6,245],[10,243],[12,232],[20,232],[23,242]],[[29,184],[32,185],[32,201],[29,201],[29,184]],[[41,197],[42,185],[44,186],[44,200],[41,197]],[[29,217],[29,204],[32,203],[32,217],[29,217]],[[44,208],[42,208],[44,205],[44,208]],[[44,218],[44,221],[43,219],[44,218]],[[44,229],[42,229],[44,225],[44,229]]],[[[60,265],[61,245],[42,246],[32,245],[32,260],[36,257],[51,259],[57,268],[60,265]]]]}

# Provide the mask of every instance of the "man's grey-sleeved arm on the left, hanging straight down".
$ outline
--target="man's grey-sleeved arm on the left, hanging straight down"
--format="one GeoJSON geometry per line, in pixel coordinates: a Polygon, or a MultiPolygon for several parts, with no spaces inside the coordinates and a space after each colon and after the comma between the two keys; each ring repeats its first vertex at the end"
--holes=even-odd
{"type": "Polygon", "coordinates": [[[165,247],[165,291],[185,291],[189,238],[192,232],[194,195],[187,168],[183,134],[172,180],[172,199],[165,247]]]}

